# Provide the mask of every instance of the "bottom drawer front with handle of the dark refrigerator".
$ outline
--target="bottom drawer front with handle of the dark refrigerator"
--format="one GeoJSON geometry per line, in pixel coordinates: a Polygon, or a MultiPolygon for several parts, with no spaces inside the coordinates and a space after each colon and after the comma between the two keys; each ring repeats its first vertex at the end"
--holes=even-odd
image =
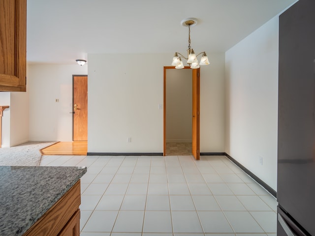
{"type": "Polygon", "coordinates": [[[310,236],[278,207],[277,236],[310,236]]]}

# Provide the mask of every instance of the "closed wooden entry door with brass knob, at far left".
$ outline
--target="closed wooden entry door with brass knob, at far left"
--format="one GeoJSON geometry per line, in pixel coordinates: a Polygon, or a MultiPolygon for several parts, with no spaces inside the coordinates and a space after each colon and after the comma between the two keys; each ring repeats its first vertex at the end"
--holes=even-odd
{"type": "Polygon", "coordinates": [[[73,76],[73,141],[88,141],[88,76],[73,76]]]}

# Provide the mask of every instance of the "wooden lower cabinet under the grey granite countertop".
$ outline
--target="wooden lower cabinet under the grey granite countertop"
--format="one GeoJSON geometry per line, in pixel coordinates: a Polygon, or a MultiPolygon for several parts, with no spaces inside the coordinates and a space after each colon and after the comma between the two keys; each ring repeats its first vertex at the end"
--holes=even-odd
{"type": "Polygon", "coordinates": [[[23,236],[79,236],[80,180],[23,236]]]}

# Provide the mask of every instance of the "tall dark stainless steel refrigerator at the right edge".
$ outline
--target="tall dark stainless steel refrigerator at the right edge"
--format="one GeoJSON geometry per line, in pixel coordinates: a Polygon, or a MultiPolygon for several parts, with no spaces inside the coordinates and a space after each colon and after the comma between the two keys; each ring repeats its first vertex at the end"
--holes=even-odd
{"type": "Polygon", "coordinates": [[[315,236],[315,0],[279,18],[277,236],[315,236]]]}

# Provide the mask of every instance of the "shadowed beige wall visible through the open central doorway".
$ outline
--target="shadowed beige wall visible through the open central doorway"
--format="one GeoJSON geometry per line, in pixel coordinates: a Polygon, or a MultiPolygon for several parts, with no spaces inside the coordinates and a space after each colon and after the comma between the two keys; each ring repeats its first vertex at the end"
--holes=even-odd
{"type": "Polygon", "coordinates": [[[192,69],[166,69],[166,142],[190,142],[192,69]]]}

